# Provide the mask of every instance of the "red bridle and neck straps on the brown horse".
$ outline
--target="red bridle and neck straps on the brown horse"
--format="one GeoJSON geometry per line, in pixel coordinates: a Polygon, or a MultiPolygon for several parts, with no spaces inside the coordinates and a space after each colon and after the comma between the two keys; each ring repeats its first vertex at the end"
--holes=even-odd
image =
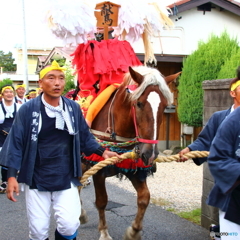
{"type": "MultiPolygon", "coordinates": [[[[128,87],[128,86],[127,86],[128,87]]],[[[126,88],[127,88],[126,87],[126,88]]],[[[110,104],[110,107],[109,107],[109,111],[108,111],[108,128],[107,128],[107,132],[110,132],[110,138],[113,139],[113,140],[116,140],[116,133],[114,131],[114,117],[113,117],[113,114],[112,114],[112,108],[113,108],[113,102],[115,100],[115,97],[118,93],[118,90],[116,92],[116,94],[114,95],[113,99],[112,99],[112,102],[110,104]],[[110,127],[110,118],[111,118],[111,122],[112,122],[112,131],[111,131],[111,127],[110,127]]],[[[136,111],[135,111],[135,105],[136,105],[136,102],[133,104],[132,106],[132,115],[133,115],[133,123],[134,123],[134,128],[135,128],[135,133],[136,133],[136,139],[138,142],[141,142],[141,143],[150,143],[150,144],[157,144],[158,143],[158,140],[150,140],[150,139],[143,139],[143,138],[140,138],[139,136],[139,133],[138,133],[138,128],[137,128],[137,118],[136,118],[136,111]]]]}

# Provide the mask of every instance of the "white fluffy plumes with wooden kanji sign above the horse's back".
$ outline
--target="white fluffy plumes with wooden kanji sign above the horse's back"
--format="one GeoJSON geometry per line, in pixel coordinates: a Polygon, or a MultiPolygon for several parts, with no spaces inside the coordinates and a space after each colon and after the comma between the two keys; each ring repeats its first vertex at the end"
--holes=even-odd
{"type": "Polygon", "coordinates": [[[50,0],[46,21],[52,33],[62,39],[65,46],[77,46],[95,38],[94,34],[98,32],[97,25],[98,27],[101,25],[100,27],[105,30],[105,37],[106,26],[108,26],[114,30],[112,35],[115,38],[127,40],[131,45],[142,39],[145,64],[156,64],[151,38],[159,37],[161,30],[173,26],[172,20],[168,17],[171,14],[170,9],[160,2],[114,0],[113,3],[99,0],[50,0]],[[101,23],[102,19],[105,22],[101,23]],[[116,22],[117,26],[114,24],[116,22]]]}

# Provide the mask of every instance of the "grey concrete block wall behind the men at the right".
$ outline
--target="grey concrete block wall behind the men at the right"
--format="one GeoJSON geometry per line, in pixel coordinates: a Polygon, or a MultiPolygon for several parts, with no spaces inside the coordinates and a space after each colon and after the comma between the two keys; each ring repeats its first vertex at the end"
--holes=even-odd
{"type": "MultiPolygon", "coordinates": [[[[233,104],[232,98],[229,95],[230,81],[231,79],[220,79],[203,82],[203,125],[206,125],[214,112],[227,109],[233,104]]],[[[204,163],[201,225],[207,229],[209,229],[210,224],[218,224],[218,209],[206,204],[206,199],[213,185],[214,179],[209,171],[208,164],[204,163]]]]}

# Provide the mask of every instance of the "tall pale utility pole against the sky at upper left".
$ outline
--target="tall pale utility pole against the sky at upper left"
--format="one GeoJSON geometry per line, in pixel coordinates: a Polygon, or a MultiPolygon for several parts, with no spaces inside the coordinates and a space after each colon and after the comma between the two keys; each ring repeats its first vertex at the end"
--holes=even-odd
{"type": "Polygon", "coordinates": [[[28,57],[27,57],[27,36],[26,36],[26,21],[25,21],[25,3],[22,0],[22,14],[23,14],[23,83],[26,85],[26,91],[28,91],[28,57]]]}

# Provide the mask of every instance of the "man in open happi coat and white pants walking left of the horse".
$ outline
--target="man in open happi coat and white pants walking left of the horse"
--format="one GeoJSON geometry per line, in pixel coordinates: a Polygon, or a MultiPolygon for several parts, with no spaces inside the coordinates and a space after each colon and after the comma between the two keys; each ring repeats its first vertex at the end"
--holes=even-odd
{"type": "Polygon", "coordinates": [[[115,162],[121,158],[97,143],[79,105],[61,96],[64,70],[53,61],[40,71],[43,93],[22,105],[0,153],[0,165],[9,167],[8,199],[16,202],[18,182],[24,184],[29,238],[34,240],[48,239],[51,208],[57,225],[55,240],[76,239],[81,152],[114,156],[115,162]]]}

